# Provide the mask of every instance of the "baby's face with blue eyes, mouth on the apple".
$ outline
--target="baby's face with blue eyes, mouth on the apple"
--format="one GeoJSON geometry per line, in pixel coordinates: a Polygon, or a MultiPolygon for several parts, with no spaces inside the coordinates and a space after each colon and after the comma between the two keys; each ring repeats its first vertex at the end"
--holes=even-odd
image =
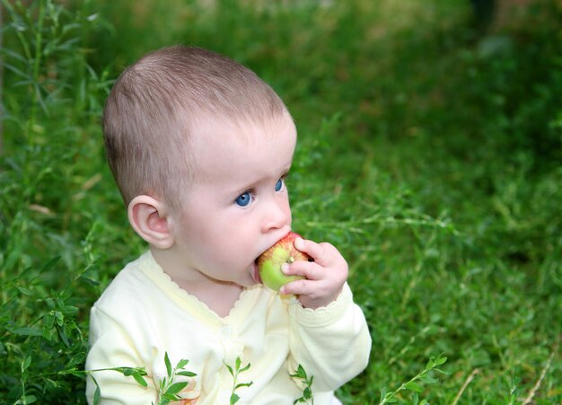
{"type": "Polygon", "coordinates": [[[296,143],[293,120],[236,128],[209,123],[197,132],[189,141],[194,180],[172,231],[182,268],[254,285],[254,260],[291,229],[285,175],[296,143]]]}

